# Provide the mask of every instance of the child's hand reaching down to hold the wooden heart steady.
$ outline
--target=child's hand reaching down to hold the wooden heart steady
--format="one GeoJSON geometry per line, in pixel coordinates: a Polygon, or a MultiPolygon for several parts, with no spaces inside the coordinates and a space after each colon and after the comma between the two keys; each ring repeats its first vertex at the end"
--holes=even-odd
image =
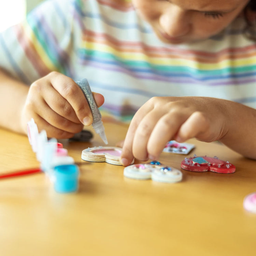
{"type": "Polygon", "coordinates": [[[225,102],[205,97],[151,98],[131,121],[121,155],[123,165],[129,165],[133,157],[156,160],[170,140],[222,138],[229,122],[225,102]]]}

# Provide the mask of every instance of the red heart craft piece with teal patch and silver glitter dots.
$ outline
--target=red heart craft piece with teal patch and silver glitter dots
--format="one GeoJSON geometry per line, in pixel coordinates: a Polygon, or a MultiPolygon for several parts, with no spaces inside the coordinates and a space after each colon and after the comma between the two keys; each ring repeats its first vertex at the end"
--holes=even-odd
{"type": "Polygon", "coordinates": [[[236,167],[228,161],[220,160],[218,157],[196,156],[185,157],[181,162],[181,168],[193,172],[217,172],[217,173],[234,173],[236,167]]]}

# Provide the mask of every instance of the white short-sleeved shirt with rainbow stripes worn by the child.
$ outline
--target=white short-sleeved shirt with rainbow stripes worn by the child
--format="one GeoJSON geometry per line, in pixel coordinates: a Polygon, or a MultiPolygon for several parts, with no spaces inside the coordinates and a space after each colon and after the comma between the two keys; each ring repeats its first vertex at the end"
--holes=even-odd
{"type": "Polygon", "coordinates": [[[161,42],[129,0],[48,0],[0,34],[0,67],[31,84],[51,71],[105,97],[105,118],[129,121],[153,96],[206,96],[256,108],[256,45],[237,18],[197,43],[161,42]]]}

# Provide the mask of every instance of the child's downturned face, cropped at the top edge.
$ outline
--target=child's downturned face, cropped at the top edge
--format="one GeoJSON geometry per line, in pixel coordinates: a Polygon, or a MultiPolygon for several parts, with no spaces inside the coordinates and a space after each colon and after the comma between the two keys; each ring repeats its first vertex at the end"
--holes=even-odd
{"type": "Polygon", "coordinates": [[[132,0],[161,41],[172,44],[207,39],[228,26],[249,0],[132,0]]]}

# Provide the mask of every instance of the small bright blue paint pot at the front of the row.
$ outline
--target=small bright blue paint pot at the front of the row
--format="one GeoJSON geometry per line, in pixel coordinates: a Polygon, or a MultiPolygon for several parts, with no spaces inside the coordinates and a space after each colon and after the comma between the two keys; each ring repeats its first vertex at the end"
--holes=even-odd
{"type": "Polygon", "coordinates": [[[59,165],[54,170],[54,189],[58,193],[75,192],[78,189],[79,169],[77,165],[59,165]]]}

